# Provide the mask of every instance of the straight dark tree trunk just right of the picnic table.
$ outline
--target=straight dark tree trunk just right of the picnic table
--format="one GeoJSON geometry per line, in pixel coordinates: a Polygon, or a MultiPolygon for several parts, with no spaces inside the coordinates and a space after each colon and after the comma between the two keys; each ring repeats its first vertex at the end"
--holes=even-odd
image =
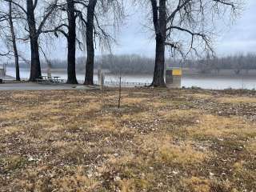
{"type": "Polygon", "coordinates": [[[75,52],[76,52],[76,26],[74,0],[66,0],[68,14],[68,37],[67,37],[67,82],[69,84],[78,84],[75,72],[75,52]]]}

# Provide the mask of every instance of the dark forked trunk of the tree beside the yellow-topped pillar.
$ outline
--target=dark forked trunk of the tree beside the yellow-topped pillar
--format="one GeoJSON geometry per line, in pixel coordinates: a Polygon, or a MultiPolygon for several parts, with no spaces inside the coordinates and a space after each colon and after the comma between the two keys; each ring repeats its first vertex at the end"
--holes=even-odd
{"type": "Polygon", "coordinates": [[[152,86],[166,86],[165,72],[165,41],[166,41],[166,0],[150,0],[153,11],[154,30],[156,34],[155,66],[152,86]]]}

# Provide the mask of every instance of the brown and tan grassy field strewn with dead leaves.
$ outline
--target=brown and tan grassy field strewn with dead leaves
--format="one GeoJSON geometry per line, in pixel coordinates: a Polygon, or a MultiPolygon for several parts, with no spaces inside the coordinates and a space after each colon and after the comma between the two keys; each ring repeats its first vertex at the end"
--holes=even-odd
{"type": "Polygon", "coordinates": [[[256,189],[256,92],[0,92],[0,191],[256,189]]]}

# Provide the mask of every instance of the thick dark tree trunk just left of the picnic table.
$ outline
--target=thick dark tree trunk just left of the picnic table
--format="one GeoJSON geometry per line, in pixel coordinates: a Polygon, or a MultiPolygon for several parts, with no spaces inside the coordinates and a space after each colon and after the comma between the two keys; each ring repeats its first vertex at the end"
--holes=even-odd
{"type": "Polygon", "coordinates": [[[30,30],[30,50],[31,50],[31,68],[30,81],[34,82],[37,78],[42,78],[38,34],[36,30],[36,23],[34,19],[34,3],[33,0],[26,0],[26,17],[30,30]]]}

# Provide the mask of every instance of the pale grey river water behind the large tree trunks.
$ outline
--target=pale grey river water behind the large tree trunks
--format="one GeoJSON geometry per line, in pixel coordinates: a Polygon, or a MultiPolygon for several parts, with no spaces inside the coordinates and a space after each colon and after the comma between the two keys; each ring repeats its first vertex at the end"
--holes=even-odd
{"type": "MultiPolygon", "coordinates": [[[[15,77],[15,69],[14,67],[7,67],[6,74],[12,77],[15,77]]],[[[46,73],[42,73],[42,75],[46,75],[46,73]]],[[[21,78],[29,78],[30,71],[28,69],[20,70],[21,78]]],[[[58,76],[63,79],[66,79],[66,73],[64,72],[52,72],[52,76],[58,76]]],[[[79,82],[82,82],[85,78],[84,74],[77,74],[77,78],[79,82]]],[[[97,77],[94,78],[97,80],[97,77]]],[[[114,75],[106,75],[106,81],[118,81],[118,78],[114,75]]],[[[140,83],[150,83],[152,81],[152,76],[150,75],[125,75],[122,77],[123,82],[140,82],[140,83]]],[[[214,90],[224,90],[224,89],[256,89],[256,77],[217,77],[217,76],[188,76],[185,75],[182,77],[182,86],[191,87],[198,86],[202,89],[214,89],[214,90]]]]}

